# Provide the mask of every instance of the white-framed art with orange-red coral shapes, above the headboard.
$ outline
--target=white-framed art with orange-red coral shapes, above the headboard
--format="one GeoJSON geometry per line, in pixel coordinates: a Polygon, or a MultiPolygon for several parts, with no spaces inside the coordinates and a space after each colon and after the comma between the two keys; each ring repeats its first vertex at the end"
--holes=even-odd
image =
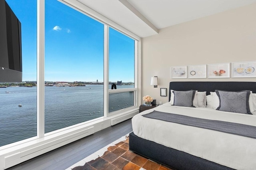
{"type": "Polygon", "coordinates": [[[208,78],[230,78],[230,63],[207,64],[208,78]]]}

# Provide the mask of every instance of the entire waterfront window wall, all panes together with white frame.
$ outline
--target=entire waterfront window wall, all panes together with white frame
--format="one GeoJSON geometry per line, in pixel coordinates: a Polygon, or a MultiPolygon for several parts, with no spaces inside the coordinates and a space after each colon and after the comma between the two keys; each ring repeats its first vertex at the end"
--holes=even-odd
{"type": "Polygon", "coordinates": [[[110,126],[110,119],[138,112],[138,41],[109,29],[112,21],[106,18],[103,23],[88,17],[78,1],[65,0],[72,8],[57,0],[6,1],[22,23],[23,82],[0,88],[1,158],[29,149],[38,156],[110,126]],[[3,146],[16,141],[15,147],[3,146]]]}

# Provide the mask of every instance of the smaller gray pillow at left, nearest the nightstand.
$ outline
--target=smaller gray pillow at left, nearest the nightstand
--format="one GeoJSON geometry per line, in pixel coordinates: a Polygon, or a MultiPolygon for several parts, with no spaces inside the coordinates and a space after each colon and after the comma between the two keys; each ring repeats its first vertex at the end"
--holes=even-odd
{"type": "Polygon", "coordinates": [[[174,106],[186,106],[186,107],[194,107],[193,99],[195,96],[195,90],[188,91],[173,91],[174,93],[174,106]]]}

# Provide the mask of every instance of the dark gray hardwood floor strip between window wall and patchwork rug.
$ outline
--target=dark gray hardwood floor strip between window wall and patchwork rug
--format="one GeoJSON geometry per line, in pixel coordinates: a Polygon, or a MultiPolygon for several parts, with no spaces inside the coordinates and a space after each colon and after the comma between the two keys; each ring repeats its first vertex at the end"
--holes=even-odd
{"type": "Polygon", "coordinates": [[[132,121],[128,119],[78,141],[8,168],[8,170],[65,170],[131,131],[132,121]]]}

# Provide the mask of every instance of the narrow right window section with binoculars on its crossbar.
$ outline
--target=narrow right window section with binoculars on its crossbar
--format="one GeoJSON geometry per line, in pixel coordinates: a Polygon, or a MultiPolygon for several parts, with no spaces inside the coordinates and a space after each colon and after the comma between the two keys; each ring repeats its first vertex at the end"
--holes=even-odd
{"type": "Polygon", "coordinates": [[[109,113],[134,106],[135,41],[109,29],[109,113]],[[118,89],[118,91],[116,91],[118,89]]]}

